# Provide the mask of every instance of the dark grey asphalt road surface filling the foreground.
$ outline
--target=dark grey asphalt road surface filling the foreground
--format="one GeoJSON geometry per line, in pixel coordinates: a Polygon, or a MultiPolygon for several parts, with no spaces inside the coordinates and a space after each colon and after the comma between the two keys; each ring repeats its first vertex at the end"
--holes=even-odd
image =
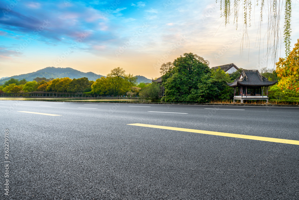
{"type": "Polygon", "coordinates": [[[1,200],[299,199],[299,145],[127,125],[298,141],[299,108],[2,100],[0,113],[1,200]]]}

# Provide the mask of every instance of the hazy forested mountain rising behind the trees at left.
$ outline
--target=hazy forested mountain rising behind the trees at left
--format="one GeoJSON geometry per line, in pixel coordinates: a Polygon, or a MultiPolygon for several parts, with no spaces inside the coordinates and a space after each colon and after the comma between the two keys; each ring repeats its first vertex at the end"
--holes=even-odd
{"type": "Polygon", "coordinates": [[[66,67],[66,68],[61,68],[61,67],[46,67],[41,70],[37,70],[36,72],[31,72],[27,74],[21,74],[17,76],[10,76],[10,77],[4,77],[3,79],[0,80],[0,85],[4,84],[5,81],[8,81],[11,78],[14,79],[26,79],[27,81],[33,81],[36,77],[45,77],[47,79],[49,78],[63,78],[63,77],[69,77],[70,79],[79,79],[82,77],[87,77],[88,80],[95,81],[96,79],[99,79],[102,77],[102,75],[95,74],[93,72],[81,72],[78,70],[74,70],[73,68],[66,67]]]}

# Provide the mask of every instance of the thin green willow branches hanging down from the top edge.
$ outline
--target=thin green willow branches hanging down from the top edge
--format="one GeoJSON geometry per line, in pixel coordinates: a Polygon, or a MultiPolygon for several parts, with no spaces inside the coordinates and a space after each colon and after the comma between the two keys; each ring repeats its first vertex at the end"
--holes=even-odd
{"type": "MultiPolygon", "coordinates": [[[[216,0],[217,2],[217,0],[216,0]]],[[[276,60],[277,58],[277,52],[279,48],[279,40],[280,40],[280,16],[281,16],[281,10],[283,9],[283,4],[280,4],[280,1],[277,0],[271,0],[269,1],[268,5],[268,28],[267,28],[267,40],[268,40],[268,45],[267,45],[267,56],[272,55],[272,60],[276,60]]],[[[254,5],[252,5],[251,0],[244,0],[244,1],[239,1],[239,0],[225,0],[225,1],[220,1],[220,10],[221,10],[221,16],[224,16],[224,21],[225,21],[225,27],[229,23],[229,17],[233,14],[234,15],[234,24],[236,29],[238,28],[238,16],[239,12],[241,11],[243,13],[243,37],[242,37],[242,45],[244,43],[244,38],[245,40],[248,39],[248,34],[247,34],[247,26],[251,26],[251,10],[252,7],[257,7],[260,9],[260,22],[259,22],[259,41],[258,44],[261,44],[261,36],[264,35],[261,33],[261,26],[263,22],[263,11],[265,10],[265,4],[264,0],[257,0],[254,5]],[[231,9],[231,7],[233,7],[231,9]],[[244,37],[245,36],[245,37],[244,37]]],[[[286,47],[286,56],[290,52],[290,36],[291,36],[291,0],[286,0],[285,1],[285,15],[284,15],[284,43],[286,47]]]]}

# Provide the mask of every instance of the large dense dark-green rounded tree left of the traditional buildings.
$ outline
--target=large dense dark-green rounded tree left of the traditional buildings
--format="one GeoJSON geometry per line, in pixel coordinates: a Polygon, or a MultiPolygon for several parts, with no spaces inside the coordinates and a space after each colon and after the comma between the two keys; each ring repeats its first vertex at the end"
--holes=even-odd
{"type": "Polygon", "coordinates": [[[202,76],[211,73],[207,64],[200,62],[193,53],[184,53],[173,62],[173,69],[162,76],[167,102],[196,101],[195,94],[202,76]],[[193,93],[191,93],[193,91],[193,93]]]}

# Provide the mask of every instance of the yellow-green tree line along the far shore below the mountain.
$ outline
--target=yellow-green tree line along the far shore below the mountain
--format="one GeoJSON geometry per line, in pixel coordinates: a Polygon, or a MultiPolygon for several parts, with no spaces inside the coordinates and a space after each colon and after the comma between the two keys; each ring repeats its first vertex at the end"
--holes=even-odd
{"type": "MultiPolygon", "coordinates": [[[[150,84],[149,84],[150,85],[150,84]]],[[[20,93],[20,92],[62,92],[62,93],[86,93],[100,94],[105,96],[118,95],[139,95],[139,91],[147,87],[145,83],[137,85],[137,77],[126,74],[123,68],[117,67],[107,77],[101,77],[96,81],[89,81],[83,77],[79,79],[37,77],[33,81],[26,79],[18,80],[11,78],[0,86],[0,93],[20,93]]]]}

